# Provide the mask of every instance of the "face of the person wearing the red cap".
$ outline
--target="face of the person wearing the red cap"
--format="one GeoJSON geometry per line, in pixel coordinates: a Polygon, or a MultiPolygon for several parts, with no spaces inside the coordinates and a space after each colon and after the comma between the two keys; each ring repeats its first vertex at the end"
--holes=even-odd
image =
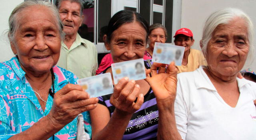
{"type": "Polygon", "coordinates": [[[177,35],[174,40],[174,44],[177,46],[185,47],[185,52],[190,50],[190,47],[194,44],[194,39],[186,35],[177,35]]]}

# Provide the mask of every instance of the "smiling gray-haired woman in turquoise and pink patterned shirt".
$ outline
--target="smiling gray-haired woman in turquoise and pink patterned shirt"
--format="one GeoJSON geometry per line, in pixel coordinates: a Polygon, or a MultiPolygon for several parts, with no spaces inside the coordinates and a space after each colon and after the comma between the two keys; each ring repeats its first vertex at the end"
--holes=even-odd
{"type": "Polygon", "coordinates": [[[89,138],[84,111],[94,109],[98,99],[75,85],[74,74],[54,66],[64,37],[56,7],[26,0],[12,11],[9,27],[15,56],[0,63],[0,139],[89,138]]]}

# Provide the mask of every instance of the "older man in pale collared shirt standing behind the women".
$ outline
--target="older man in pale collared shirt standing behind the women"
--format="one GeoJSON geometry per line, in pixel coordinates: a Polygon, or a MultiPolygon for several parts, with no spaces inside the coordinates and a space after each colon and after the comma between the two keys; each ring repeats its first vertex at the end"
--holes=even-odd
{"type": "Polygon", "coordinates": [[[59,0],[56,3],[64,25],[65,39],[61,43],[58,66],[73,72],[78,78],[94,76],[98,69],[95,45],[77,33],[84,19],[80,0],[59,0]]]}

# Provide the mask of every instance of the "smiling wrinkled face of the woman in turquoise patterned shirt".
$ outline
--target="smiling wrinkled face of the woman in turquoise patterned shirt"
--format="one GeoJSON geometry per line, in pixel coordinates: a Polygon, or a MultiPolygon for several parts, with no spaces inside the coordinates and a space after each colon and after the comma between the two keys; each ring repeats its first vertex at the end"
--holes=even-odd
{"type": "Polygon", "coordinates": [[[11,42],[12,51],[18,55],[24,71],[47,72],[60,56],[61,39],[56,18],[43,6],[33,6],[18,16],[19,28],[15,41],[11,42]]]}

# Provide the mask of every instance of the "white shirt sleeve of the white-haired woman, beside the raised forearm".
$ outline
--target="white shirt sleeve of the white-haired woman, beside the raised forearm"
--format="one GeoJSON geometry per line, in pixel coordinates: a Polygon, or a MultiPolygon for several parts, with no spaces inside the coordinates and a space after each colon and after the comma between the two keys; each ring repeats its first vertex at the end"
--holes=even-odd
{"type": "Polygon", "coordinates": [[[174,103],[174,113],[175,113],[175,120],[176,120],[178,132],[180,133],[182,140],[186,140],[188,111],[186,108],[186,103],[184,101],[180,80],[178,80],[178,83],[177,83],[177,93],[176,93],[176,99],[174,103]]]}

